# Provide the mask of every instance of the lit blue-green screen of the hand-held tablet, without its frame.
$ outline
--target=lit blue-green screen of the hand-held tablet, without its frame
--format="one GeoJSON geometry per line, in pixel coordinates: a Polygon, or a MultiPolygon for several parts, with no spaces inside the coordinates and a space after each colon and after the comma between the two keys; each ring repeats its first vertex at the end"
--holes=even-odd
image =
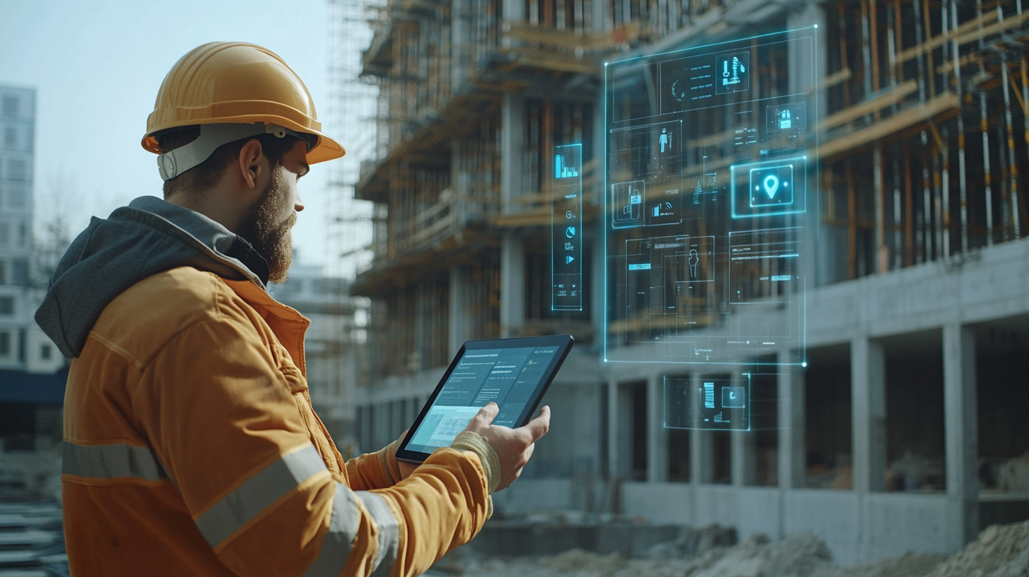
{"type": "Polygon", "coordinates": [[[490,401],[500,407],[493,425],[514,427],[560,348],[547,345],[466,349],[406,449],[430,453],[449,447],[490,401]]]}

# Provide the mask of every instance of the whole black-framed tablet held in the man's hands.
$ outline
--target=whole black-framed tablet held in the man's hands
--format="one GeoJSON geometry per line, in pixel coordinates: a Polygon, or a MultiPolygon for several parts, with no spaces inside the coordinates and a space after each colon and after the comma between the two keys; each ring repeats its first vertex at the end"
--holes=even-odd
{"type": "Polygon", "coordinates": [[[532,418],[575,340],[571,335],[468,341],[451,362],[396,451],[422,463],[449,447],[471,417],[493,401],[493,425],[522,427],[532,418]]]}

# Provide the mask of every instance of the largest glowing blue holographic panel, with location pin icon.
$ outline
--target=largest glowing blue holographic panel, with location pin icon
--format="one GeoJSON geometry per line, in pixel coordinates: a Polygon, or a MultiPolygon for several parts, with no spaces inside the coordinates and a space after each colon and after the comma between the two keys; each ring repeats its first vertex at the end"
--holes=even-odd
{"type": "Polygon", "coordinates": [[[816,32],[606,66],[606,361],[804,361],[816,32]]]}

